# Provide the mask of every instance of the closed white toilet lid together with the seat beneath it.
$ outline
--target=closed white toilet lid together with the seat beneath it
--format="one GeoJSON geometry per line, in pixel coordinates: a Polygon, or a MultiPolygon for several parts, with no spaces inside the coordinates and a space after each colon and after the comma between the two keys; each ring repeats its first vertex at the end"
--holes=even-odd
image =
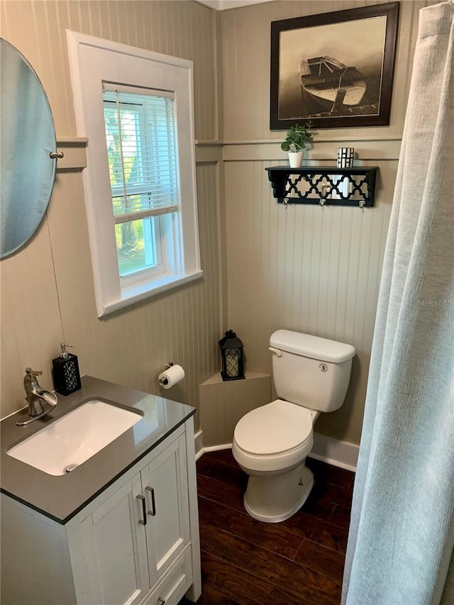
{"type": "Polygon", "coordinates": [[[311,412],[276,399],[240,419],[233,435],[233,455],[248,471],[278,471],[304,460],[313,439],[311,412]]]}

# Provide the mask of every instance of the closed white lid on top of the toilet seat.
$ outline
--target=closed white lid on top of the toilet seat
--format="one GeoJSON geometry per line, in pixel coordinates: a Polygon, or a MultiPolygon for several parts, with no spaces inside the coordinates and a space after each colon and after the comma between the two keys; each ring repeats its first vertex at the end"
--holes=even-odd
{"type": "Polygon", "coordinates": [[[309,410],[277,399],[243,416],[236,425],[235,440],[250,454],[273,455],[299,447],[311,433],[309,410]]]}

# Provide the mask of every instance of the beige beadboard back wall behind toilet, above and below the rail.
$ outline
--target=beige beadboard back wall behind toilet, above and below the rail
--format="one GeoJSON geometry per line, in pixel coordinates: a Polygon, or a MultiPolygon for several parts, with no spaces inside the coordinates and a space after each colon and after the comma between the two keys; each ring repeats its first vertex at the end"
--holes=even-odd
{"type": "Polygon", "coordinates": [[[364,210],[285,208],[272,198],[265,167],[287,162],[284,133],[269,129],[270,23],[368,4],[377,0],[281,0],[222,13],[228,325],[254,372],[272,371],[268,339],[278,328],[355,345],[345,404],[316,422],[319,433],[350,443],[360,441],[419,10],[434,3],[400,3],[389,126],[315,131],[306,152],[308,165],[335,165],[336,148],[348,145],[360,165],[378,166],[375,207],[364,210]]]}

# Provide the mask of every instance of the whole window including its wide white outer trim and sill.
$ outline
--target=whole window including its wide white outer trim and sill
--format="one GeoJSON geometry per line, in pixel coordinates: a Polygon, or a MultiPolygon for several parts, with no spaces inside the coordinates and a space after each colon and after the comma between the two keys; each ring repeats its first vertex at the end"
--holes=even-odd
{"type": "Polygon", "coordinates": [[[201,277],[192,62],[67,32],[98,315],[201,277]]]}

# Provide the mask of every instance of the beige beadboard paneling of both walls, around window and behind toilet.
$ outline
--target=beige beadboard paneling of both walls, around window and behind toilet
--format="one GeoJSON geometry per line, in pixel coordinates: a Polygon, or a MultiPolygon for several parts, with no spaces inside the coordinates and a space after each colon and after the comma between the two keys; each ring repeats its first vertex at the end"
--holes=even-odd
{"type": "Polygon", "coordinates": [[[316,426],[358,443],[418,13],[434,2],[401,2],[391,124],[319,131],[309,153],[309,162],[329,164],[337,146],[352,142],[362,161],[380,167],[374,209],[284,209],[264,168],[284,160],[282,133],[268,126],[270,22],[366,4],[377,0],[279,0],[221,13],[187,0],[1,2],[0,35],[38,72],[60,139],[76,135],[66,28],[194,61],[204,269],[199,282],[97,319],[82,176],[58,171],[35,238],[0,265],[1,416],[23,406],[26,366],[43,370],[51,387],[62,339],[82,372],[150,392],[160,392],[167,361],[181,363],[186,379],[161,394],[196,404],[199,383],[218,371],[223,329],[238,331],[249,370],[270,372],[270,333],[291,328],[358,348],[345,405],[316,426]],[[228,143],[224,164],[219,140],[228,143]]]}

